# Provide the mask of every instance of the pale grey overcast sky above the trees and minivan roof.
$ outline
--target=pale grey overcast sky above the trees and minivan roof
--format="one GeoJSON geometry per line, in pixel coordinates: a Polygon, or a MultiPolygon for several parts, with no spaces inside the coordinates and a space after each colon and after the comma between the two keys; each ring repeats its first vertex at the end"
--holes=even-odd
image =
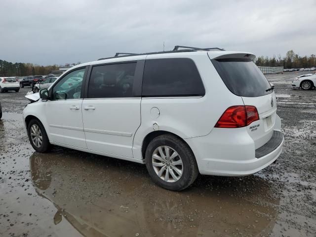
{"type": "Polygon", "coordinates": [[[316,0],[1,0],[0,59],[94,61],[174,45],[316,54],[316,0]]]}

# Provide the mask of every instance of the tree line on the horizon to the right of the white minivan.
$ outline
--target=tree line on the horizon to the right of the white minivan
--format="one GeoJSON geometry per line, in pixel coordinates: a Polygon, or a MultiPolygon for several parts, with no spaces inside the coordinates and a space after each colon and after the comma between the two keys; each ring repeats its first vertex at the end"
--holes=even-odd
{"type": "Polygon", "coordinates": [[[284,69],[290,68],[312,68],[316,66],[316,55],[311,54],[311,56],[299,56],[293,50],[289,50],[285,57],[281,55],[273,57],[256,57],[255,63],[257,66],[264,67],[284,67],[284,69]]]}

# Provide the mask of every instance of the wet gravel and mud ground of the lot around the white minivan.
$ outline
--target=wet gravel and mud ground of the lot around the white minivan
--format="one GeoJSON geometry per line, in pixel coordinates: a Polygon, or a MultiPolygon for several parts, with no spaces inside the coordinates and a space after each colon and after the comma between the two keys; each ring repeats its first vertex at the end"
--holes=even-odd
{"type": "Polygon", "coordinates": [[[34,152],[28,103],[0,94],[0,236],[316,236],[316,90],[275,84],[283,152],[247,177],[199,175],[182,192],[156,186],[145,165],[54,147],[34,152]]]}

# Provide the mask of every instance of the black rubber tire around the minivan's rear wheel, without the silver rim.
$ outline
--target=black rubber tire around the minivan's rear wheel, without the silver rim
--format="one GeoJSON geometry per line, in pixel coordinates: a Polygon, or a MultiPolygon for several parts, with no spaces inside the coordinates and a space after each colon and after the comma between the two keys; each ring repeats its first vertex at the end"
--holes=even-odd
{"type": "MultiPolygon", "coordinates": [[[[172,191],[180,191],[189,187],[197,178],[198,169],[196,158],[190,147],[172,134],[164,134],[154,138],[148,145],[145,154],[147,170],[153,181],[160,187],[172,191]],[[167,182],[162,180],[153,167],[152,156],[159,146],[168,146],[175,150],[182,160],[182,176],[178,181],[167,182]]],[[[163,168],[163,167],[162,167],[163,168]]],[[[165,172],[162,172],[162,174],[165,172]]]]}

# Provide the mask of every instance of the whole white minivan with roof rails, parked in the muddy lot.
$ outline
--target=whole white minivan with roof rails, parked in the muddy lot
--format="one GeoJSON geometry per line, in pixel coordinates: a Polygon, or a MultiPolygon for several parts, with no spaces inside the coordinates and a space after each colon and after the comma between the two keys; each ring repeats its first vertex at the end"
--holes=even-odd
{"type": "Polygon", "coordinates": [[[74,66],[25,107],[30,142],[145,163],[169,190],[198,173],[253,174],[283,144],[276,95],[254,57],[176,46],[74,66]]]}

